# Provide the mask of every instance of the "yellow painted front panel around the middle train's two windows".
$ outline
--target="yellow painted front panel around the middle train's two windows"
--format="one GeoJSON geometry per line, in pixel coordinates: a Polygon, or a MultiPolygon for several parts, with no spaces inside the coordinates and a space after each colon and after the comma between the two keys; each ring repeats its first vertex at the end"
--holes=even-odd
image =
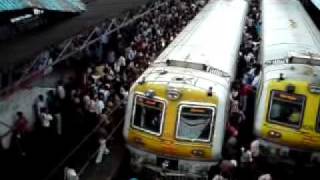
{"type": "MultiPolygon", "coordinates": [[[[143,85],[138,85],[135,88],[137,94],[144,94],[148,90],[152,90],[156,99],[162,99],[165,103],[164,123],[161,127],[161,132],[158,134],[145,132],[144,130],[134,128],[131,123],[128,134],[128,143],[141,150],[162,156],[182,159],[211,160],[213,158],[213,150],[210,142],[177,140],[176,127],[178,110],[181,102],[201,102],[216,105],[217,98],[214,96],[208,97],[207,92],[204,90],[191,91],[190,89],[180,89],[181,97],[177,100],[169,100],[167,98],[168,89],[166,85],[145,83],[143,85]]],[[[139,98],[139,95],[137,95],[137,97],[139,98]]],[[[146,103],[157,104],[157,102],[146,103]]],[[[156,106],[162,107],[160,101],[158,104],[159,105],[156,106]]]]}

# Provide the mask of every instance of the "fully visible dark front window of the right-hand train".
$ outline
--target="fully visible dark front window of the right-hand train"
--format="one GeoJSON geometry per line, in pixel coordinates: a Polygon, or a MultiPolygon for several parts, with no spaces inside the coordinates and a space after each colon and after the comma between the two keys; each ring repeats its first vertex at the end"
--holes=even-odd
{"type": "Polygon", "coordinates": [[[269,121],[299,128],[303,119],[305,96],[272,91],[269,121]]]}

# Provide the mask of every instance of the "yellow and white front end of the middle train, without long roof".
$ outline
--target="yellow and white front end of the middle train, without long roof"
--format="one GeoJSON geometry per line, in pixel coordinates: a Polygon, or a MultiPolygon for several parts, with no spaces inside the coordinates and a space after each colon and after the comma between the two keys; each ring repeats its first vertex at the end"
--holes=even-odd
{"type": "Polygon", "coordinates": [[[132,86],[124,136],[131,165],[168,176],[207,176],[221,156],[227,91],[207,73],[148,69],[132,86]],[[219,106],[223,106],[219,107],[219,106]]]}

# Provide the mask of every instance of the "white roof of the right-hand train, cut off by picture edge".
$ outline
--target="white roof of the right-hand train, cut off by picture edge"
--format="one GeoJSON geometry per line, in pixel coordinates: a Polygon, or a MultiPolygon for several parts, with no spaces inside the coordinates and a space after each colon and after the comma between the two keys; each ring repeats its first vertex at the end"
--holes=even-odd
{"type": "Polygon", "coordinates": [[[263,63],[319,56],[320,32],[298,0],[263,0],[262,12],[263,63]]]}

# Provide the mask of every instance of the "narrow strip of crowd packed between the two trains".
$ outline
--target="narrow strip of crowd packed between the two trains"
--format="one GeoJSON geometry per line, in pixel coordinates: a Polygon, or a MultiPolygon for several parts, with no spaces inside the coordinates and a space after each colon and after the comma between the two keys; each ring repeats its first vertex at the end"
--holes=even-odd
{"type": "Polygon", "coordinates": [[[224,147],[224,156],[212,167],[209,179],[213,180],[271,180],[272,171],[261,166],[259,143],[254,140],[253,108],[261,76],[258,62],[261,26],[260,2],[250,1],[249,12],[240,46],[237,78],[232,83],[230,117],[224,147]],[[263,168],[262,168],[263,167],[263,168]]]}

